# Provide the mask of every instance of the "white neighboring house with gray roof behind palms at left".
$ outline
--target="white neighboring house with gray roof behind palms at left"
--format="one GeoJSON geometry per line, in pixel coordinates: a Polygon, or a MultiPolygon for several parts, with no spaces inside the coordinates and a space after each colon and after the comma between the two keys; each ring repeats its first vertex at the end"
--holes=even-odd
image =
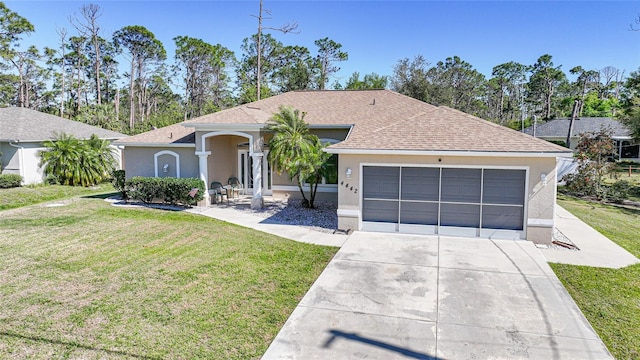
{"type": "MultiPolygon", "coordinates": [[[[115,131],[67,120],[39,111],[9,107],[0,108],[0,163],[3,174],[19,174],[24,184],[43,181],[40,151],[43,142],[55,138],[56,133],[72,134],[88,139],[96,134],[101,139],[117,140],[126,135],[115,131]]],[[[118,159],[120,152],[117,151],[118,159]]]]}

